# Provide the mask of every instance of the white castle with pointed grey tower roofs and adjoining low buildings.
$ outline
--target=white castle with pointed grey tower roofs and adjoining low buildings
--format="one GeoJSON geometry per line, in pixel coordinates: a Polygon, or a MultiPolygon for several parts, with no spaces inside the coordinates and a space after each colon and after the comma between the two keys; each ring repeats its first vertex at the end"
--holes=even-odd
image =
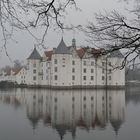
{"type": "Polygon", "coordinates": [[[11,78],[3,73],[0,81],[52,88],[124,87],[125,68],[117,68],[123,59],[120,51],[101,55],[101,49],[77,48],[75,39],[66,46],[62,38],[57,48],[45,51],[42,57],[34,48],[27,68],[11,73],[11,78]]]}

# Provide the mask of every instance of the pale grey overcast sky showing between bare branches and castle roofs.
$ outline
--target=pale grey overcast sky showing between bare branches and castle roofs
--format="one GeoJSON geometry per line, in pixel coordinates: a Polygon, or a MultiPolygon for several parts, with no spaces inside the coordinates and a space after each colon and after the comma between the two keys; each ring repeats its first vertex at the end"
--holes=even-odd
{"type": "MultiPolygon", "coordinates": [[[[80,11],[70,11],[68,15],[68,21],[71,24],[85,25],[87,21],[91,21],[94,19],[94,13],[103,12],[103,11],[111,11],[117,10],[121,13],[126,12],[124,9],[128,7],[128,5],[119,0],[76,0],[77,6],[82,10],[80,11]]],[[[65,32],[63,35],[64,41],[67,45],[71,45],[71,40],[73,36],[76,39],[76,43],[78,46],[87,46],[89,45],[85,41],[85,37],[80,33],[73,31],[65,32]]],[[[49,31],[46,39],[46,47],[48,49],[57,47],[60,40],[62,38],[62,33],[58,33],[55,31],[49,31]]],[[[34,39],[26,32],[17,31],[14,35],[13,39],[15,41],[10,41],[7,45],[7,51],[12,60],[26,60],[26,58],[30,55],[31,51],[34,48],[35,41],[34,39]]],[[[42,54],[43,49],[38,49],[42,54]]],[[[9,58],[5,55],[5,53],[0,54],[0,67],[4,65],[11,65],[12,63],[9,61],[9,58]]]]}

